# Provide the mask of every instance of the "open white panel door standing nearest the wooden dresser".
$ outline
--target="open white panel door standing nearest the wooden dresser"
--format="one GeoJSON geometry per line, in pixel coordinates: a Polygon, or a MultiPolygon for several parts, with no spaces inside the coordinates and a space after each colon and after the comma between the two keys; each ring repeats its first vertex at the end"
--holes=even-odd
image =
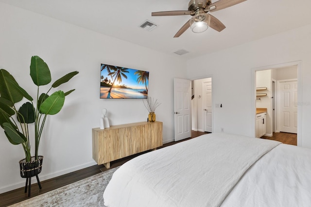
{"type": "Polygon", "coordinates": [[[175,141],[191,137],[191,81],[174,78],[175,141]]]}

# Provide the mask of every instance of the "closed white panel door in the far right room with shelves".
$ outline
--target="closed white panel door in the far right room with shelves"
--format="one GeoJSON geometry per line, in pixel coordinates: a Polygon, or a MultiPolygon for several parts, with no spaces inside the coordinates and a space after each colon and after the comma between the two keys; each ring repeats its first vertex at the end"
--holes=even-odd
{"type": "Polygon", "coordinates": [[[279,131],[297,134],[297,81],[279,81],[279,131]]]}

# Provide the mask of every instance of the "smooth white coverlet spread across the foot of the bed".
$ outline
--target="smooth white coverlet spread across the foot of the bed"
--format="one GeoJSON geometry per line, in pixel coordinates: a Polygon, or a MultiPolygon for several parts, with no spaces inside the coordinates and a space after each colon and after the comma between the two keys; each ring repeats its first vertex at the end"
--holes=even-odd
{"type": "Polygon", "coordinates": [[[104,191],[104,204],[219,206],[243,174],[278,144],[224,133],[208,134],[140,155],[114,173],[104,191]]]}

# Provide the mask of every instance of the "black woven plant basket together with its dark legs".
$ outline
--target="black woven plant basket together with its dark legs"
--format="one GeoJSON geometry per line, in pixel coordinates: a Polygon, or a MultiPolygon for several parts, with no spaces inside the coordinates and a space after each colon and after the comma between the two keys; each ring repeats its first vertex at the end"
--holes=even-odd
{"type": "Polygon", "coordinates": [[[27,186],[29,187],[28,197],[30,197],[31,177],[35,176],[39,189],[42,188],[38,177],[38,174],[41,173],[42,170],[42,162],[43,156],[38,156],[38,159],[32,156],[29,162],[27,162],[26,159],[19,160],[20,176],[26,178],[25,193],[27,192],[27,186]]]}

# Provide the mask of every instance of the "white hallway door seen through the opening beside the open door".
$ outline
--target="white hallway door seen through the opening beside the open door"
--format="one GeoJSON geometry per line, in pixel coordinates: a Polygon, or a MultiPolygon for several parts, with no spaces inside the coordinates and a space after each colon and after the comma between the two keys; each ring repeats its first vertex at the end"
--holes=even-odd
{"type": "Polygon", "coordinates": [[[212,82],[203,82],[204,131],[212,132],[212,82]]]}

